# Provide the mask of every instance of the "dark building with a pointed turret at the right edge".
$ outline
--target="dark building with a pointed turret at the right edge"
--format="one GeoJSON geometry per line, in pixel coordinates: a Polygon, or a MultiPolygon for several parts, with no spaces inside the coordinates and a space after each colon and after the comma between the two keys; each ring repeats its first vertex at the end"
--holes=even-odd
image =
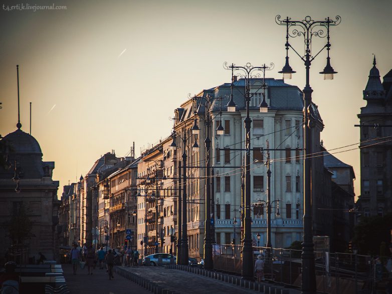
{"type": "Polygon", "coordinates": [[[382,216],[392,213],[392,70],[381,83],[375,57],[363,99],[366,106],[358,114],[361,141],[358,209],[362,216],[382,216]]]}

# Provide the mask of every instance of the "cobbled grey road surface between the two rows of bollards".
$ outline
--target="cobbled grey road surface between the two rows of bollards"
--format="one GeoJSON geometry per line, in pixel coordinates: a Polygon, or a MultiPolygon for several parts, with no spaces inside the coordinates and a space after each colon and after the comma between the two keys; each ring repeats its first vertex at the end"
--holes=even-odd
{"type": "Polygon", "coordinates": [[[154,281],[163,288],[175,290],[176,293],[255,293],[253,290],[183,270],[166,269],[160,266],[122,266],[121,268],[132,271],[133,273],[148,280],[154,281]]]}

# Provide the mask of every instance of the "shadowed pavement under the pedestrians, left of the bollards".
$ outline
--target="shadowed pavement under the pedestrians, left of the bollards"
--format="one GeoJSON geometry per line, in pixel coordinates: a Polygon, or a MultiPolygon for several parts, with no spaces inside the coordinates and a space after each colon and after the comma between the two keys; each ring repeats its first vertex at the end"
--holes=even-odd
{"type": "Polygon", "coordinates": [[[87,268],[78,268],[77,274],[72,274],[72,265],[63,264],[64,276],[72,294],[151,294],[136,283],[114,274],[109,280],[105,269],[94,269],[92,275],[87,274],[87,268]]]}

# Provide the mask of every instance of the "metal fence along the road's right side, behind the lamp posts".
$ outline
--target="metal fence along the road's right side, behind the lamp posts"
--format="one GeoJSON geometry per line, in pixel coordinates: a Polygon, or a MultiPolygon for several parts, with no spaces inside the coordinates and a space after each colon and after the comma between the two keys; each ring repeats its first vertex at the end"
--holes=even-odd
{"type": "MultiPolygon", "coordinates": [[[[279,284],[300,287],[302,251],[272,248],[269,254],[267,249],[253,247],[254,261],[259,254],[263,256],[265,278],[279,284]]],[[[241,274],[241,245],[214,244],[213,250],[215,269],[241,274]]],[[[376,293],[377,290],[386,288],[391,270],[391,257],[315,252],[317,290],[322,293],[376,293]]]]}

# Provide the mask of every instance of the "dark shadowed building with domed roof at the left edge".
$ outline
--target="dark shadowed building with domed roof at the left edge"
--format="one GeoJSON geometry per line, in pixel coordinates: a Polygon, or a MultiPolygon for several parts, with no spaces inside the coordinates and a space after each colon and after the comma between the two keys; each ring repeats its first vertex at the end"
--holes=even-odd
{"type": "MultiPolygon", "coordinates": [[[[52,179],[53,161],[42,161],[37,140],[18,129],[1,140],[0,166],[0,246],[3,254],[22,250],[27,257],[58,259],[59,182],[52,179]]],[[[18,260],[19,261],[19,260],[18,260]]]]}

